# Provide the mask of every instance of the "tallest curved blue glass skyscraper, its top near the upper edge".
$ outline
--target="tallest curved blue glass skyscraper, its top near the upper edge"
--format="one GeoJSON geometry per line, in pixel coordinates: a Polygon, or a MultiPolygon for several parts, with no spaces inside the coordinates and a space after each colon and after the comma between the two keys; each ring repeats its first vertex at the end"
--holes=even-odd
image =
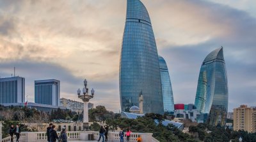
{"type": "Polygon", "coordinates": [[[156,41],[147,9],[140,0],[127,0],[119,71],[122,111],[139,106],[142,94],[143,113],[164,113],[156,41]]]}

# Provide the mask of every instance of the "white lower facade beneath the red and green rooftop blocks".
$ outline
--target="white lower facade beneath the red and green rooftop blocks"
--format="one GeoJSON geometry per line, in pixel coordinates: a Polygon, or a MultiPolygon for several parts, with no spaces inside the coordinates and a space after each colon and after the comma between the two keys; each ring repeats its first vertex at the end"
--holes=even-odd
{"type": "MultiPolygon", "coordinates": [[[[198,122],[197,118],[200,116],[200,112],[197,109],[184,110],[177,109],[174,111],[175,118],[189,119],[192,122],[198,122]]],[[[201,123],[201,122],[198,122],[201,123]]]]}

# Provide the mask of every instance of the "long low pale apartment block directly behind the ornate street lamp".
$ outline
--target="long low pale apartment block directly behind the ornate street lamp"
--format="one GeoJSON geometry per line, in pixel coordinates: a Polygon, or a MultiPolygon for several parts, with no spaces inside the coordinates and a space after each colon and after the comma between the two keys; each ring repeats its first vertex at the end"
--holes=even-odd
{"type": "MultiPolygon", "coordinates": [[[[61,98],[60,99],[60,106],[67,107],[67,109],[70,109],[72,111],[76,111],[77,113],[82,113],[83,108],[84,108],[84,103],[83,102],[77,102],[75,100],[70,100],[70,99],[65,99],[61,98]]],[[[92,109],[93,104],[88,103],[88,109],[92,109]]]]}

